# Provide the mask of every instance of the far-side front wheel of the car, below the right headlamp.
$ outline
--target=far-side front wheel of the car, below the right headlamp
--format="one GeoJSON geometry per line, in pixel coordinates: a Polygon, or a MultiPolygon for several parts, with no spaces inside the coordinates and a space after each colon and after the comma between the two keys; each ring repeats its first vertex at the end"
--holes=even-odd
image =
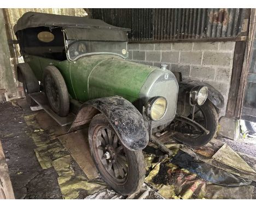
{"type": "MultiPolygon", "coordinates": [[[[178,142],[196,148],[207,144],[208,142],[210,142],[211,139],[216,137],[216,133],[218,130],[218,115],[216,109],[209,100],[206,100],[206,102],[202,106],[196,106],[194,115],[194,120],[203,127],[205,127],[205,129],[210,131],[210,133],[177,133],[174,134],[174,138],[178,140],[178,142]]],[[[189,124],[183,123],[179,125],[181,125],[179,126],[181,130],[194,130],[194,127],[190,126],[189,124]]],[[[198,129],[195,130],[199,131],[198,129]]]]}

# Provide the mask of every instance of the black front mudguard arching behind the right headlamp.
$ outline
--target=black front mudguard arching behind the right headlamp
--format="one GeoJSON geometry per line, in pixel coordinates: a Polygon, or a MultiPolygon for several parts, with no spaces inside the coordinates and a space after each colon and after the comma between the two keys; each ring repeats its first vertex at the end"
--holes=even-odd
{"type": "Polygon", "coordinates": [[[205,85],[208,87],[207,99],[210,100],[216,108],[222,109],[224,107],[223,95],[220,94],[217,89],[212,87],[212,85],[205,82],[185,80],[179,82],[177,115],[183,115],[187,117],[190,114],[191,106],[189,105],[189,92],[192,88],[200,85],[205,85]]]}

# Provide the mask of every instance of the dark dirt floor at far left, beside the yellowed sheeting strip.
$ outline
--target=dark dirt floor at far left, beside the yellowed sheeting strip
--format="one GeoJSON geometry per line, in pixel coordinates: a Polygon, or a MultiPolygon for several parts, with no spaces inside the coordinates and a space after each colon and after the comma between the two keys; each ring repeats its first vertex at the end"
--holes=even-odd
{"type": "Polygon", "coordinates": [[[0,138],[8,164],[10,180],[16,199],[62,199],[54,168],[42,169],[34,148],[27,136],[28,126],[24,114],[29,109],[13,106],[10,102],[0,105],[0,138]]]}

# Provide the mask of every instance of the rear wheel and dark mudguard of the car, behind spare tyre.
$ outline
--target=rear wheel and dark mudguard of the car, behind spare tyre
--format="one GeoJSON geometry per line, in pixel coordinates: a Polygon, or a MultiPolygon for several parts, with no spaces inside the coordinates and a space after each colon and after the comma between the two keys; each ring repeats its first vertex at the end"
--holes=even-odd
{"type": "Polygon", "coordinates": [[[30,93],[38,93],[40,91],[39,82],[33,74],[32,69],[27,63],[18,64],[17,67],[18,81],[22,82],[24,94],[28,106],[37,106],[37,103],[30,97],[30,93]],[[25,74],[22,74],[24,71],[25,74]]]}

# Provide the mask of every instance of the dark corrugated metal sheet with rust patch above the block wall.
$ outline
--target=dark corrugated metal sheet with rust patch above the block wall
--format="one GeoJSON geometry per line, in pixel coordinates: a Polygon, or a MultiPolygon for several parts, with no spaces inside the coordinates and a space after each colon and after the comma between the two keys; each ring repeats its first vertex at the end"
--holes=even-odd
{"type": "Polygon", "coordinates": [[[89,9],[92,18],[131,28],[129,40],[236,37],[246,9],[89,9]]]}

